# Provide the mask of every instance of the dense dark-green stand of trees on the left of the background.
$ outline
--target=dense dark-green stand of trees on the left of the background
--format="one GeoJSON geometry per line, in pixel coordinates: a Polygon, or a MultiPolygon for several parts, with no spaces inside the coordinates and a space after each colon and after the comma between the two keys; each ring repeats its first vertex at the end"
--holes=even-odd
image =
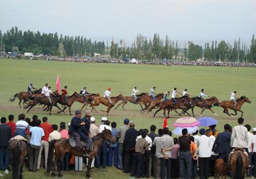
{"type": "Polygon", "coordinates": [[[104,41],[92,41],[84,37],[70,37],[58,33],[22,32],[12,27],[6,33],[0,31],[0,51],[32,52],[34,54],[85,56],[86,53],[105,52],[104,41]]]}

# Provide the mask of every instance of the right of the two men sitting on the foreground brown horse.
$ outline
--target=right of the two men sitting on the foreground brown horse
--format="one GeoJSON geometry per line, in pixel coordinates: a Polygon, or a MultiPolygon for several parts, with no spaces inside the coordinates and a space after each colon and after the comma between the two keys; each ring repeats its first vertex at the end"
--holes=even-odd
{"type": "Polygon", "coordinates": [[[82,141],[86,142],[86,152],[87,154],[89,151],[91,151],[92,147],[92,138],[90,137],[90,126],[91,126],[91,116],[92,112],[91,110],[86,110],[85,111],[85,116],[81,118],[80,122],[85,122],[85,125],[81,126],[78,128],[78,134],[80,135],[80,138],[82,141]]]}

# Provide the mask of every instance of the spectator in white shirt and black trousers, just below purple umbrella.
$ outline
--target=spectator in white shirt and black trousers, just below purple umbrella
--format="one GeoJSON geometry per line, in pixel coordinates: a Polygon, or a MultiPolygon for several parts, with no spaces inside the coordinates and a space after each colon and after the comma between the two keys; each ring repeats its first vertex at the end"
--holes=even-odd
{"type": "Polygon", "coordinates": [[[198,163],[200,179],[209,178],[209,162],[211,157],[211,140],[205,135],[205,129],[201,128],[199,133],[201,137],[197,139],[198,163]]]}

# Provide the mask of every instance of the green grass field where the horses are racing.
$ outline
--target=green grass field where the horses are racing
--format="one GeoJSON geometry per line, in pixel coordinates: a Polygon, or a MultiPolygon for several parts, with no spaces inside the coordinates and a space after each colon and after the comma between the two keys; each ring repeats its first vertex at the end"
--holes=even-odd
{"type": "MultiPolygon", "coordinates": [[[[200,89],[210,91],[209,96],[218,97],[219,101],[229,100],[230,92],[237,90],[239,95],[245,95],[252,103],[245,103],[244,111],[245,123],[255,127],[256,116],[256,69],[255,68],[232,68],[232,67],[195,67],[195,66],[161,66],[161,65],[128,65],[128,64],[110,64],[110,63],[81,63],[81,62],[57,62],[57,61],[29,61],[29,60],[0,60],[0,116],[8,117],[9,114],[17,115],[25,113],[20,109],[18,101],[9,102],[14,94],[20,91],[26,91],[30,82],[34,87],[42,88],[45,83],[49,83],[52,89],[56,89],[57,75],[60,75],[61,87],[68,86],[69,94],[74,91],[80,91],[82,87],[87,87],[89,92],[99,92],[101,95],[108,88],[112,88],[112,95],[117,96],[120,93],[124,96],[131,96],[132,89],[137,86],[141,92],[149,92],[149,89],[156,86],[156,92],[166,92],[177,87],[179,91],[188,88],[190,94],[199,95],[200,89]]],[[[74,103],[72,112],[81,108],[81,103],[74,103]]],[[[96,106],[96,109],[106,109],[106,106],[96,106]]],[[[139,112],[139,105],[128,104],[126,111],[121,108],[116,111],[111,110],[108,119],[116,121],[117,127],[122,125],[124,118],[134,120],[136,128],[149,128],[155,124],[158,128],[163,125],[163,113],[159,112],[156,118],[153,113],[150,117],[139,112]]],[[[218,117],[213,116],[210,111],[205,111],[203,116],[215,117],[219,124],[217,129],[223,131],[223,125],[229,123],[232,126],[237,124],[237,117],[233,119],[224,114],[223,109],[215,107],[213,110],[218,117]]],[[[68,112],[56,114],[58,110],[53,108],[52,116],[34,107],[27,117],[32,118],[37,114],[41,119],[44,116],[49,118],[51,124],[58,124],[61,121],[68,123],[71,116],[68,112]]],[[[199,116],[200,109],[195,108],[195,114],[199,116]]],[[[100,123],[100,118],[106,113],[94,113],[96,123],[100,123]]],[[[177,114],[171,112],[171,118],[168,121],[169,126],[178,118],[177,114]]],[[[240,117],[240,113],[238,113],[240,117]]],[[[172,127],[170,127],[172,128],[172,127]]],[[[24,172],[25,178],[48,178],[44,170],[38,173],[24,172]]],[[[81,173],[64,173],[65,178],[85,177],[85,171],[81,173]]],[[[94,178],[130,178],[115,168],[93,169],[94,178]]],[[[11,174],[4,178],[11,178],[11,174]]],[[[50,177],[49,177],[50,178],[50,177]]]]}

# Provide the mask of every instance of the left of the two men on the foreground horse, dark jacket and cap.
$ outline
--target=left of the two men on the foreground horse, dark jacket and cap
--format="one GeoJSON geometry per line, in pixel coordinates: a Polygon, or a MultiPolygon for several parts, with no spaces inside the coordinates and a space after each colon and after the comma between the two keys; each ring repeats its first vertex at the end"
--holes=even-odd
{"type": "Polygon", "coordinates": [[[84,148],[84,146],[81,146],[81,138],[80,138],[80,135],[78,134],[79,129],[82,126],[86,125],[85,121],[81,121],[81,116],[82,116],[82,112],[80,110],[75,110],[75,117],[73,117],[71,120],[70,127],[68,128],[68,135],[70,135],[75,139],[75,147],[79,151],[82,149],[82,151],[85,152],[84,154],[85,157],[90,157],[88,154],[86,154],[86,149],[84,148]]]}

